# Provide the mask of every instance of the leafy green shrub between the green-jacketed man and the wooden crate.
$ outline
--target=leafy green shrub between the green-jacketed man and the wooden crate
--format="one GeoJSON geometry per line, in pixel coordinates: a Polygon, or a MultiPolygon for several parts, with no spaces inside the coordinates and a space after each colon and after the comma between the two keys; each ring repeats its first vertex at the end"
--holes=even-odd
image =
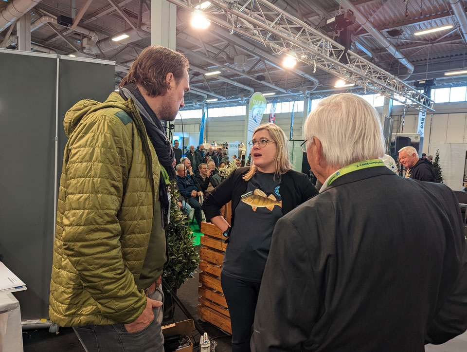
{"type": "Polygon", "coordinates": [[[162,277],[171,289],[177,290],[185,280],[193,277],[193,272],[198,267],[199,255],[193,246],[193,232],[185,223],[185,217],[178,205],[180,193],[176,180],[171,181],[170,194],[170,224],[167,225],[169,263],[162,277]]]}

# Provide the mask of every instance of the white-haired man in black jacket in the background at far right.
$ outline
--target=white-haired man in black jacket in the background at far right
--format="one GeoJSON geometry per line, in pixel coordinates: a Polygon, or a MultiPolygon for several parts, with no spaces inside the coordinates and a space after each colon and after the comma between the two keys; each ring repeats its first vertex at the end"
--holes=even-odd
{"type": "Polygon", "coordinates": [[[426,158],[418,159],[417,149],[413,147],[401,148],[399,161],[407,169],[405,177],[425,182],[436,182],[433,164],[426,158]]]}

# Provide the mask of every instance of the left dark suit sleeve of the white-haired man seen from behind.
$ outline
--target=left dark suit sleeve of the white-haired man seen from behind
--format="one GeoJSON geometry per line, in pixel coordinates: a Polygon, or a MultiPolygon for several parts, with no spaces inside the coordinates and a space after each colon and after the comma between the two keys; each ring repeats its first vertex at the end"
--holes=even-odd
{"type": "Polygon", "coordinates": [[[279,219],[256,304],[251,351],[304,350],[320,308],[320,280],[303,242],[292,222],[279,219]]]}

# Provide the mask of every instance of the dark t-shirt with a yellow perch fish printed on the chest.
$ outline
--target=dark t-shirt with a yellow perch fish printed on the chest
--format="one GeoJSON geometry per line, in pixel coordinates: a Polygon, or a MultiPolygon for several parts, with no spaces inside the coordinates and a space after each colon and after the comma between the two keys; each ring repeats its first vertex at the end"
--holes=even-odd
{"type": "Polygon", "coordinates": [[[272,231],[282,216],[280,180],[256,171],[234,209],[235,226],[229,238],[223,274],[260,282],[271,245],[272,231]]]}

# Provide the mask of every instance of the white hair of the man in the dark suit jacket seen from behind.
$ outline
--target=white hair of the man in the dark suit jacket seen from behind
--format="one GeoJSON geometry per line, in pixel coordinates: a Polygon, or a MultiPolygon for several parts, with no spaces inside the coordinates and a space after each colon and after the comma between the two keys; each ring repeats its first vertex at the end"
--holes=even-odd
{"type": "Polygon", "coordinates": [[[323,99],[305,122],[305,139],[323,146],[323,157],[332,167],[344,167],[384,155],[379,114],[355,94],[334,94],[323,99]]]}

